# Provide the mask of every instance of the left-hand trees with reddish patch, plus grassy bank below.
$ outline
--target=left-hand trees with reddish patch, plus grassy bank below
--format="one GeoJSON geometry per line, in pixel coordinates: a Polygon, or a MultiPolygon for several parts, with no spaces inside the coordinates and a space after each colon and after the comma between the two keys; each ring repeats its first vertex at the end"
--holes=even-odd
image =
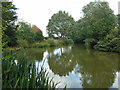
{"type": "Polygon", "coordinates": [[[44,37],[37,26],[31,26],[27,22],[21,21],[15,24],[18,19],[15,5],[4,2],[2,6],[3,47],[43,48],[73,43],[72,39],[55,41],[55,38],[44,37]]]}

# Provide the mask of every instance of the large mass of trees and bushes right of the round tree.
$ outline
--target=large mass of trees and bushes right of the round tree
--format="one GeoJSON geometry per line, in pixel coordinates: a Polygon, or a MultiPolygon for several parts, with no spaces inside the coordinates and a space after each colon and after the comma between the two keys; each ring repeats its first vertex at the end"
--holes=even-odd
{"type": "Polygon", "coordinates": [[[92,46],[97,50],[118,51],[117,17],[113,14],[108,2],[90,2],[83,7],[82,11],[83,18],[73,26],[74,42],[85,42],[86,46],[92,46]]]}

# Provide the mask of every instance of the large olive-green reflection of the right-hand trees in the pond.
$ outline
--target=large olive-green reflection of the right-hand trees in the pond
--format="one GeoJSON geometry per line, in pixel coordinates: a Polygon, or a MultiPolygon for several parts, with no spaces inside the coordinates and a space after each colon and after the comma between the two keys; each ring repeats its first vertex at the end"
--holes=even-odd
{"type": "Polygon", "coordinates": [[[83,88],[109,88],[113,85],[116,72],[118,71],[118,57],[114,53],[78,51],[72,48],[74,57],[79,64],[75,68],[76,73],[81,74],[83,88]],[[79,52],[79,54],[78,54],[79,52]]]}

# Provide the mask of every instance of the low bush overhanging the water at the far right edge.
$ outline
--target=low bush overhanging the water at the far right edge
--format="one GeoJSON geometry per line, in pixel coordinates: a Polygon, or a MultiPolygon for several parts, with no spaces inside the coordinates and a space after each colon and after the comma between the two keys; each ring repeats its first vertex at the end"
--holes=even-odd
{"type": "Polygon", "coordinates": [[[104,40],[97,42],[97,45],[95,45],[94,48],[102,51],[120,52],[120,36],[117,34],[117,28],[111,30],[104,40]]]}

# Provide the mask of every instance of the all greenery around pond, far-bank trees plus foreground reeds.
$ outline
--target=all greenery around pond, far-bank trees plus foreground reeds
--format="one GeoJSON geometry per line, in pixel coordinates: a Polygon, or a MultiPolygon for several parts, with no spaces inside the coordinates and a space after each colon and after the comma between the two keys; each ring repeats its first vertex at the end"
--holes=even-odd
{"type": "MultiPolygon", "coordinates": [[[[44,37],[40,29],[28,22],[19,21],[16,24],[16,10],[12,2],[2,3],[3,49],[20,50],[82,43],[100,51],[120,52],[120,15],[115,15],[106,1],[94,1],[84,6],[83,16],[78,21],[66,11],[60,10],[53,14],[46,25],[48,37],[44,37]]],[[[54,89],[57,84],[49,79],[43,67],[38,71],[35,62],[28,63],[27,60],[27,56],[20,55],[16,62],[13,54],[4,55],[3,52],[3,88],[54,89]]]]}

